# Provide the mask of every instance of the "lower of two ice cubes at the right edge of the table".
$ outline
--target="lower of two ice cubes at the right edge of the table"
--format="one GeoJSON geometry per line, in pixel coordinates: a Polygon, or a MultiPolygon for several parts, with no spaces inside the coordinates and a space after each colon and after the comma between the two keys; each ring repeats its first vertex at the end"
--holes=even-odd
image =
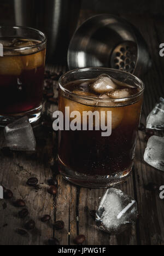
{"type": "Polygon", "coordinates": [[[145,149],[144,161],[164,171],[164,137],[152,136],[145,149]]]}

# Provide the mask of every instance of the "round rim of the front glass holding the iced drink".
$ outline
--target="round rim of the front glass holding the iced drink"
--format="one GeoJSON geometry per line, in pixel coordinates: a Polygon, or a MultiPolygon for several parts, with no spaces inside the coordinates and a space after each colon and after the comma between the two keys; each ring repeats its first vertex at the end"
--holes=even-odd
{"type": "Polygon", "coordinates": [[[133,98],[136,98],[136,97],[139,97],[140,95],[142,95],[143,92],[144,92],[144,89],[145,89],[144,83],[142,82],[142,80],[140,80],[138,77],[136,77],[136,75],[133,75],[133,74],[128,73],[126,71],[121,71],[120,69],[104,68],[104,67],[97,67],[97,68],[96,67],[90,67],[90,68],[77,68],[77,69],[73,69],[73,70],[68,71],[65,74],[61,75],[61,77],[58,80],[58,84],[59,84],[60,89],[62,91],[67,92],[71,96],[75,96],[77,98],[83,98],[84,100],[91,100],[91,101],[93,100],[93,101],[97,101],[97,102],[122,102],[122,101],[126,102],[128,100],[131,100],[133,98]],[[69,74],[76,73],[78,71],[79,72],[85,72],[85,71],[101,71],[101,70],[114,71],[114,72],[117,71],[117,72],[120,72],[120,73],[131,75],[133,78],[135,78],[138,81],[139,84],[142,85],[142,88],[136,94],[128,96],[128,97],[124,97],[124,98],[98,98],[98,97],[92,97],[92,96],[77,95],[74,92],[69,91],[68,89],[63,87],[62,79],[65,78],[69,74]]]}

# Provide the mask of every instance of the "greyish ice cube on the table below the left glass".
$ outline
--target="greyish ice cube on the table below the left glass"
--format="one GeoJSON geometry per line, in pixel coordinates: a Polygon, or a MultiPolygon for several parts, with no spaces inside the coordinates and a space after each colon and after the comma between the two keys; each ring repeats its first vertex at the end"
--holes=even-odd
{"type": "Polygon", "coordinates": [[[10,150],[34,151],[36,139],[28,117],[14,121],[4,128],[5,146],[10,150]]]}

